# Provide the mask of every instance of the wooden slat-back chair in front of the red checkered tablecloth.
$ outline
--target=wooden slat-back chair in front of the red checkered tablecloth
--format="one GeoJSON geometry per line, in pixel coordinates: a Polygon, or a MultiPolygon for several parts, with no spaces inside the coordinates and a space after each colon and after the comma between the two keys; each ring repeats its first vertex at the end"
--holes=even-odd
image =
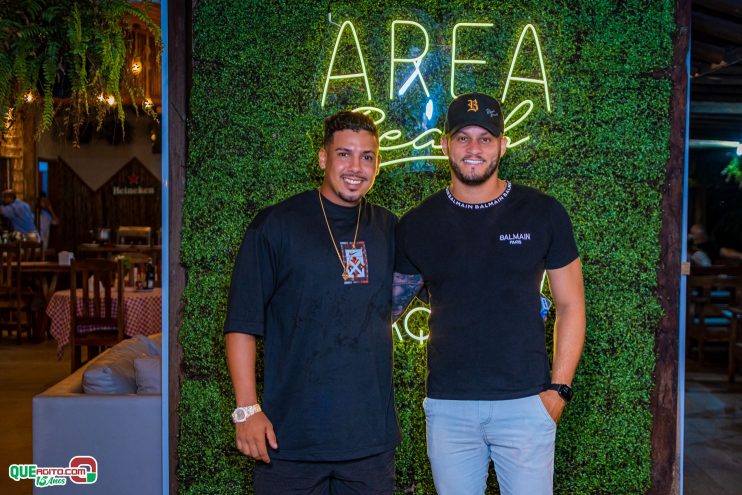
{"type": "Polygon", "coordinates": [[[82,348],[88,359],[102,347],[124,339],[123,263],[103,259],[73,261],[70,275],[70,359],[72,372],[82,366],[82,348]],[[81,289],[78,293],[77,289],[81,289]],[[82,299],[78,308],[78,298],[82,299]],[[114,303],[116,310],[114,311],[114,303]],[[95,330],[90,331],[94,326],[95,330]],[[84,327],[88,327],[87,331],[84,327]]]}

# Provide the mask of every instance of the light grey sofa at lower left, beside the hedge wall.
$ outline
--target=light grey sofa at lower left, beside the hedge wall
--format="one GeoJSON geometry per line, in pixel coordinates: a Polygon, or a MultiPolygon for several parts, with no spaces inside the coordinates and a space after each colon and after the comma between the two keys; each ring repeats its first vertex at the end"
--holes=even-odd
{"type": "Polygon", "coordinates": [[[34,486],[34,494],[162,493],[162,396],[83,391],[85,370],[111,351],[33,398],[34,464],[67,467],[74,456],[92,456],[98,462],[97,480],[34,486]]]}

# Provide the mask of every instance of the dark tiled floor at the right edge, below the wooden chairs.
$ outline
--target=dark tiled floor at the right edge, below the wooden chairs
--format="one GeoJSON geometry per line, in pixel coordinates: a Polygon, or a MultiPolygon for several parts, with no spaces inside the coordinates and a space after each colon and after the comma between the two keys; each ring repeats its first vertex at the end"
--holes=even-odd
{"type": "Polygon", "coordinates": [[[721,363],[686,367],[684,462],[684,495],[742,494],[742,376],[721,363]]]}

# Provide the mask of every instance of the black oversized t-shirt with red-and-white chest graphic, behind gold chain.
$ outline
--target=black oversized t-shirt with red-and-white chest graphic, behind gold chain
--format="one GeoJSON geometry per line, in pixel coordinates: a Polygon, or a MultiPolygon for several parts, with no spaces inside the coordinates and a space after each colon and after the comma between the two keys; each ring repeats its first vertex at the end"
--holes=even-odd
{"type": "MultiPolygon", "coordinates": [[[[357,207],[323,200],[338,243],[353,241],[357,207]]],[[[240,248],[225,332],[264,338],[262,408],[271,457],[337,461],[393,449],[391,283],[396,218],[363,201],[351,278],[316,190],[258,214],[240,248]]]]}

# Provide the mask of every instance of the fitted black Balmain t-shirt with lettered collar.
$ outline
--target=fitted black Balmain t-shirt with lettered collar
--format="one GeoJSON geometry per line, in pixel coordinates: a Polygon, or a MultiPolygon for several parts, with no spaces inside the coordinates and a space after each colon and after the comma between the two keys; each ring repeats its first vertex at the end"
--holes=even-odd
{"type": "Polygon", "coordinates": [[[402,217],[396,239],[395,271],[421,274],[430,298],[428,396],[500,400],[544,390],[541,281],[545,269],[578,256],[564,208],[510,183],[481,205],[446,189],[402,217]]]}

